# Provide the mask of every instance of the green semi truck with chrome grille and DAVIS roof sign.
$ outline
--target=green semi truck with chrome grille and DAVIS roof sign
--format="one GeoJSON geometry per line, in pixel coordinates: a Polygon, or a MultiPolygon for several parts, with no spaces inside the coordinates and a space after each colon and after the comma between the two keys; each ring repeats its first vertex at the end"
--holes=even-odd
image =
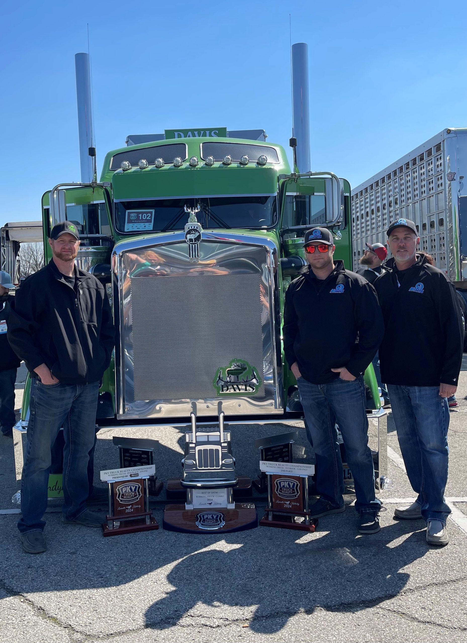
{"type": "MultiPolygon", "coordinates": [[[[311,226],[333,231],[334,256],[351,267],[351,188],[332,172],[292,172],[280,145],[221,131],[166,131],[113,150],[100,181],[42,197],[46,262],[53,225],[73,222],[77,264],[102,280],[114,313],[99,426],[156,432],[192,412],[201,423],[223,412],[228,424],[302,415],[282,348],[284,296],[311,226]]],[[[365,381],[378,413],[372,367],[365,381]]],[[[23,430],[27,416],[26,391],[23,430]]]]}

